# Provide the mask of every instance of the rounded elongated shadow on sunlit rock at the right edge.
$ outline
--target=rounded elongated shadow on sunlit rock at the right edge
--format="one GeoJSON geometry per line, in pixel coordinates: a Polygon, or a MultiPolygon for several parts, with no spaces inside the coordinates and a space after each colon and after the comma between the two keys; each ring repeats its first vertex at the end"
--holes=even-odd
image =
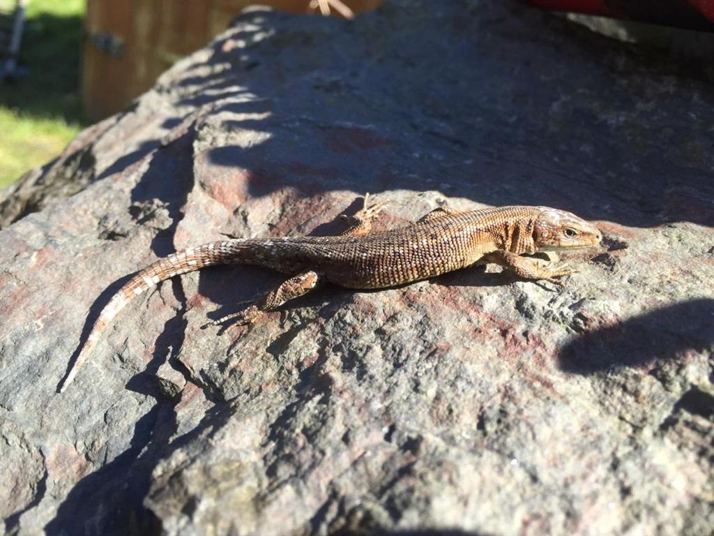
{"type": "Polygon", "coordinates": [[[694,299],[581,334],[560,352],[560,368],[592,374],[612,367],[644,367],[703,352],[714,344],[714,299],[694,299]]]}

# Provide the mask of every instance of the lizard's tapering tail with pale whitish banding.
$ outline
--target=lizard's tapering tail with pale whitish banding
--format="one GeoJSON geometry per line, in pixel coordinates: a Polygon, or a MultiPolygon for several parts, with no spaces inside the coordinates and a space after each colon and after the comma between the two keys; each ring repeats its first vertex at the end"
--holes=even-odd
{"type": "Polygon", "coordinates": [[[89,337],[87,337],[84,346],[81,348],[77,359],[74,361],[71,369],[62,381],[59,392],[64,392],[72,380],[76,376],[79,369],[84,365],[89,357],[92,347],[99,339],[101,332],[111,322],[111,319],[116,317],[116,314],[124,309],[126,304],[131,302],[131,299],[146,292],[157,283],[187,272],[193,272],[197,269],[213,266],[215,264],[226,264],[231,253],[235,254],[236,249],[240,249],[241,240],[221,240],[218,242],[210,242],[203,244],[200,247],[185,249],[182,252],[177,252],[164,257],[158,261],[149,264],[140,272],[129,279],[128,282],[121,287],[116,294],[109,300],[106,307],[102,309],[99,318],[96,319],[91,327],[89,337]]]}

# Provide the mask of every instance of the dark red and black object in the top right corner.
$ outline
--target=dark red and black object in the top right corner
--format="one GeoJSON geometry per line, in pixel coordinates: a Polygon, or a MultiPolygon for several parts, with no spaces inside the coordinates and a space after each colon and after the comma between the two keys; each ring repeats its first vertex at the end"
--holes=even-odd
{"type": "Polygon", "coordinates": [[[578,11],[616,19],[714,31],[714,0],[528,0],[556,11],[578,11]]]}

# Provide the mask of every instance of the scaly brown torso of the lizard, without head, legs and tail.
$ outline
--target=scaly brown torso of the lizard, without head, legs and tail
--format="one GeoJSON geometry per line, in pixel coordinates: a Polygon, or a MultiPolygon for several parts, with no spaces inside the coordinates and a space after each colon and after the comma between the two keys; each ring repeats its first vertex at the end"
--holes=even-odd
{"type": "Polygon", "coordinates": [[[377,289],[467,267],[502,243],[507,226],[526,207],[444,214],[401,229],[350,237],[236,239],[231,264],[258,264],[281,272],[316,269],[328,281],[352,289],[377,289]]]}

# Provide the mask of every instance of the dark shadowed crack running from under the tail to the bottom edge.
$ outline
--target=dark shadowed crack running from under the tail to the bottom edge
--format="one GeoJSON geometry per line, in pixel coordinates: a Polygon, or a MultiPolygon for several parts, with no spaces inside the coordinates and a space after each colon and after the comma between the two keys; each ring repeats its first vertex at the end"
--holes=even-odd
{"type": "Polygon", "coordinates": [[[146,369],[127,384],[131,391],[156,399],[156,405],[136,422],[129,448],[74,485],[57,515],[46,525],[48,534],[161,534],[161,522],[144,506],[156,464],[207,428],[220,430],[233,415],[230,405],[214,399],[204,388],[216,405],[191,432],[171,441],[178,428],[174,406],[179,400],[171,399],[161,389],[156,372],[167,359],[175,369],[183,369],[176,356],[186,329],[186,297],[180,282],[175,281],[173,288],[181,309],[164,325],[146,369]]]}

